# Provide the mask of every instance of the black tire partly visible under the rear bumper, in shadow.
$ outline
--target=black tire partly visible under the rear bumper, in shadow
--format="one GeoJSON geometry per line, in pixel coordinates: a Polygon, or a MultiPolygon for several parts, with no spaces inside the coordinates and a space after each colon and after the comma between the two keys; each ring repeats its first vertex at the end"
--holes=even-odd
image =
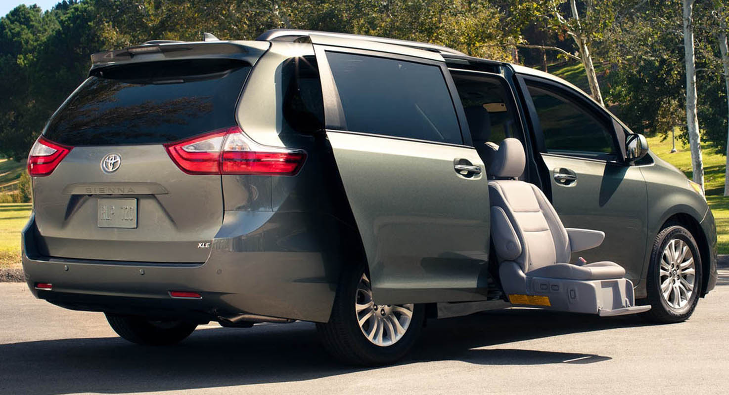
{"type": "Polygon", "coordinates": [[[198,324],[182,321],[152,321],[140,316],[106,314],[114,332],[125,340],[144,346],[169,346],[190,336],[198,324]]]}

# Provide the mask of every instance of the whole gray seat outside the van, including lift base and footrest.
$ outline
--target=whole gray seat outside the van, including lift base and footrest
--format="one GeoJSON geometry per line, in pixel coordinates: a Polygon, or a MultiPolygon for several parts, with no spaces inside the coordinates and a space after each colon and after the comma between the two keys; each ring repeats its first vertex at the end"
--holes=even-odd
{"type": "MultiPolygon", "coordinates": [[[[599,246],[605,234],[564,228],[536,185],[516,180],[524,170],[521,142],[507,138],[488,171],[491,239],[499,280],[512,305],[616,316],[636,314],[633,283],[612,262],[570,263],[572,252],[599,246]]],[[[575,196],[579,199],[579,196],[575,196]]]]}

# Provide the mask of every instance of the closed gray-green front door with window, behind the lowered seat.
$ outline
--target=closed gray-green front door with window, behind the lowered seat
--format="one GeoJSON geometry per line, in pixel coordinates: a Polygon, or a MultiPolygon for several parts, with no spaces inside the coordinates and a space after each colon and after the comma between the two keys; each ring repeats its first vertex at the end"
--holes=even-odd
{"type": "MultiPolygon", "coordinates": [[[[567,228],[605,232],[600,247],[578,252],[588,262],[612,260],[634,285],[642,273],[647,192],[642,172],[621,160],[612,119],[582,93],[552,81],[525,79],[543,136],[552,204],[567,228]]],[[[540,136],[540,137],[541,137],[540,136]]],[[[572,260],[576,260],[573,256],[572,260]]]]}

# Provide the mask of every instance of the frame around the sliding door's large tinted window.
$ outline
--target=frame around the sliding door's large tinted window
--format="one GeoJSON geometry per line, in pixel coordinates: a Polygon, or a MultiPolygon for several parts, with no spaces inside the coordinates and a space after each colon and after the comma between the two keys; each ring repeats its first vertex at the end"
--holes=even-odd
{"type": "Polygon", "coordinates": [[[466,113],[461,105],[461,98],[456,91],[456,85],[451,78],[451,73],[448,72],[448,68],[445,65],[445,61],[432,60],[423,57],[413,57],[408,55],[399,55],[389,52],[378,52],[367,49],[355,49],[348,47],[334,47],[329,45],[314,44],[314,52],[316,53],[316,63],[319,65],[319,76],[321,77],[321,95],[324,99],[324,127],[336,132],[352,133],[358,135],[372,135],[384,138],[396,138],[401,140],[413,140],[418,142],[443,144],[443,145],[456,145],[456,146],[469,146],[472,145],[471,133],[466,123],[466,113]],[[327,59],[326,52],[339,52],[351,55],[361,55],[369,57],[381,57],[389,60],[402,60],[403,62],[420,63],[424,65],[434,65],[440,68],[440,73],[445,81],[445,87],[448,90],[448,95],[451,97],[451,105],[453,105],[453,111],[456,114],[456,122],[459,127],[461,134],[460,143],[449,143],[444,141],[434,140],[420,140],[410,137],[400,137],[393,135],[383,135],[379,133],[362,132],[348,130],[346,124],[346,117],[344,116],[344,108],[342,100],[339,95],[337,84],[335,83],[334,74],[330,68],[329,60],[327,59]]]}

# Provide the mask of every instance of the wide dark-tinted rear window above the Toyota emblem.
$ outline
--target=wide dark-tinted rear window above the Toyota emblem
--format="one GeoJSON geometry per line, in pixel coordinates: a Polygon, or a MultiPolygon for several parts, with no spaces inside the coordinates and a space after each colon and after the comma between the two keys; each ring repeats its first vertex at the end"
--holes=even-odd
{"type": "Polygon", "coordinates": [[[250,69],[238,60],[212,59],[94,71],[44,135],[66,145],[158,144],[228,127],[250,69]]]}

